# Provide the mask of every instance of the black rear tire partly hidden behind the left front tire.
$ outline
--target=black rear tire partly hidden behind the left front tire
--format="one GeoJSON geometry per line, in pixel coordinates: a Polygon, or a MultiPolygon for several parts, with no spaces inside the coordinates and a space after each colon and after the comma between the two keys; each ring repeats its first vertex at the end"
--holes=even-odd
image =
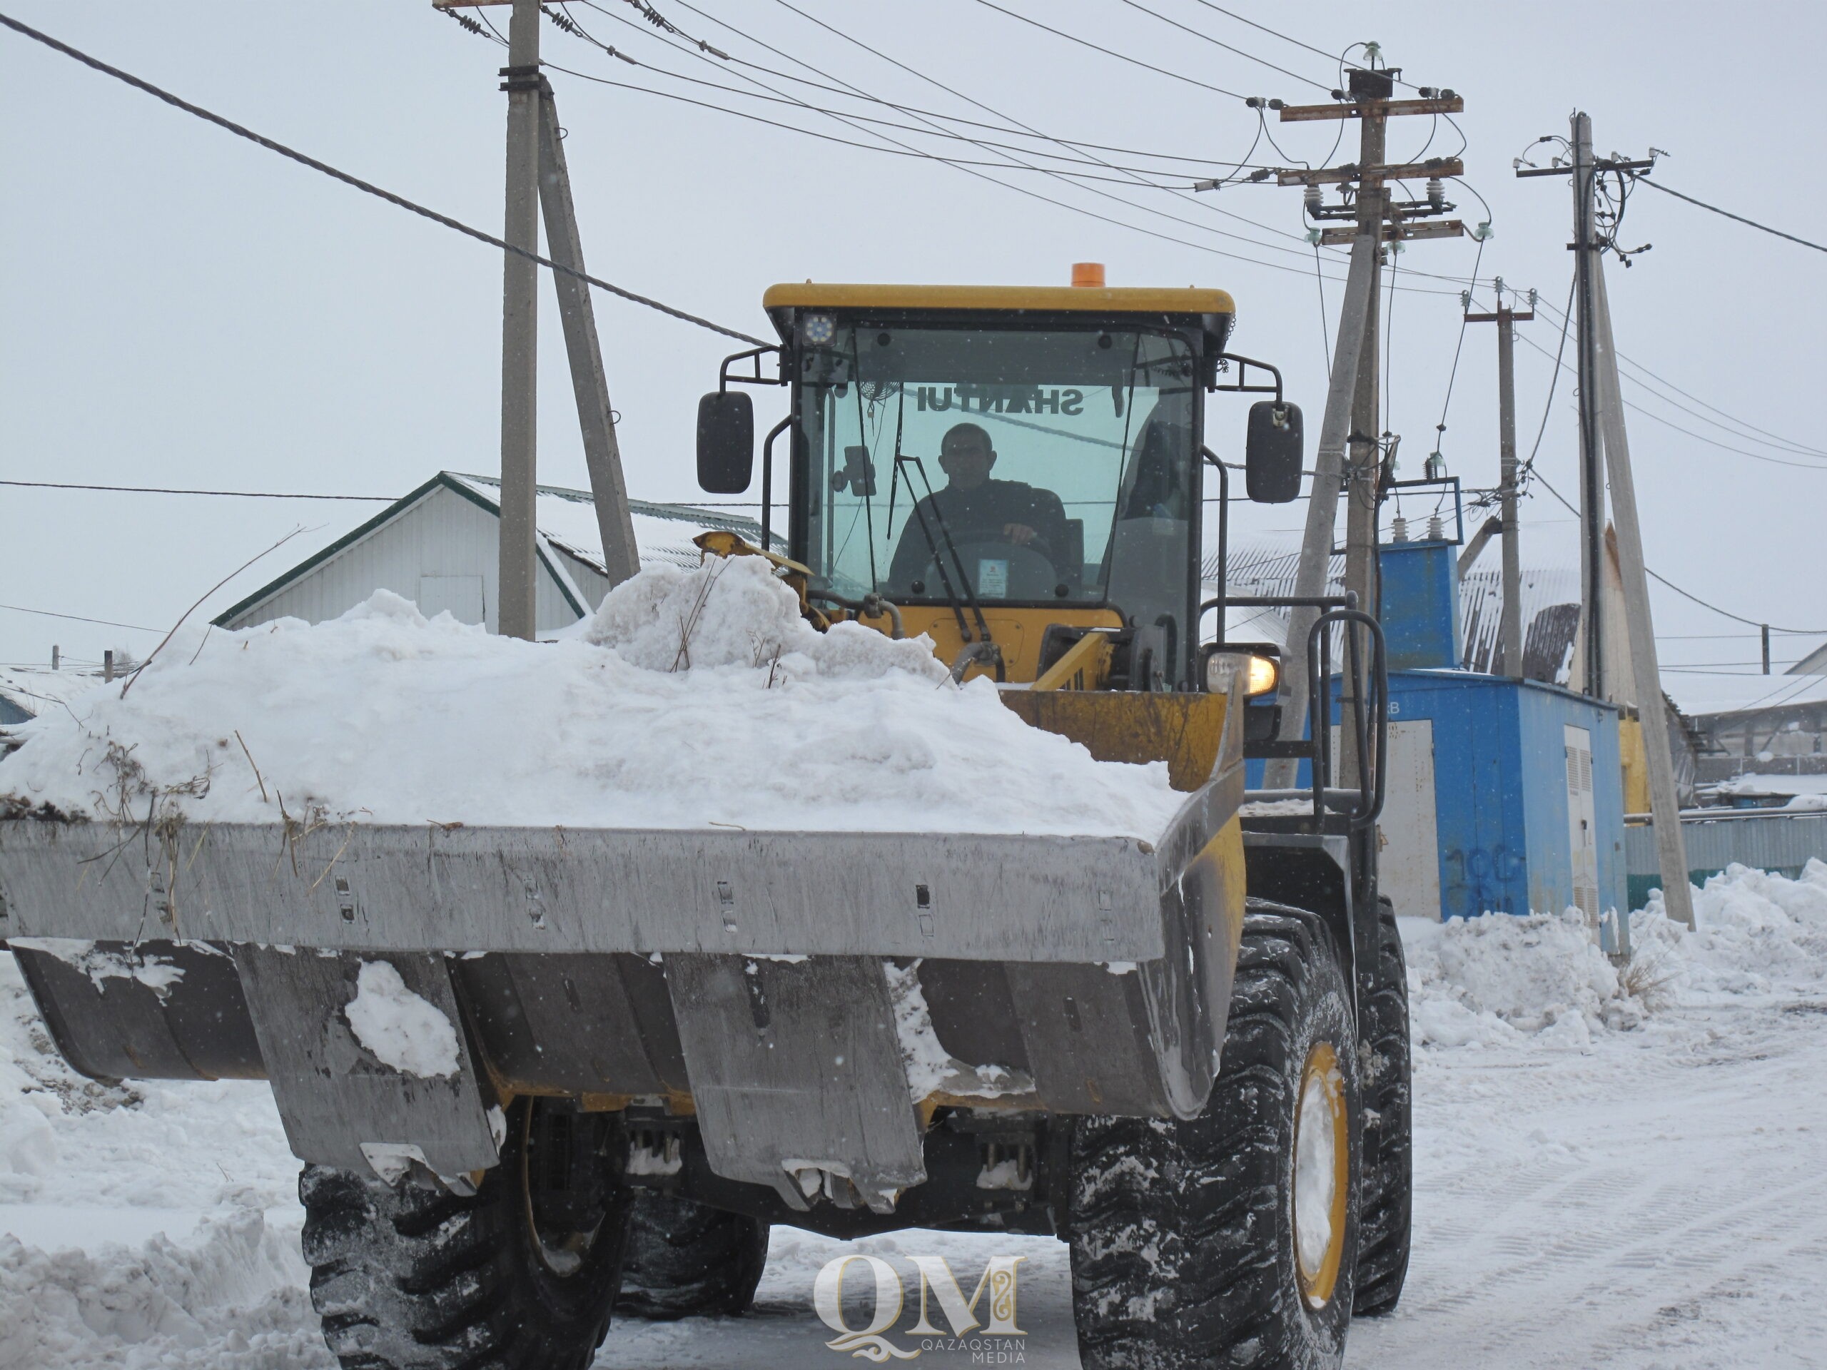
{"type": "Polygon", "coordinates": [[[766,1266],[766,1222],[638,1191],[616,1312],[650,1321],[733,1317],[755,1302],[766,1266]]]}

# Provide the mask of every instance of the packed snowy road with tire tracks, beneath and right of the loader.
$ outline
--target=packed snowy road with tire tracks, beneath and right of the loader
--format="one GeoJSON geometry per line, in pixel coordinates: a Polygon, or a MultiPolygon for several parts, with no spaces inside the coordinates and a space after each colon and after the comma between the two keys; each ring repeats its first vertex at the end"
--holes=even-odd
{"type": "MultiPolygon", "coordinates": [[[[1674,1010],[1589,1056],[1533,1043],[1427,1052],[1407,1293],[1394,1317],[1352,1328],[1346,1366],[1827,1365],[1823,1072],[1827,986],[1812,1001],[1674,1010]]],[[[833,1333],[811,1312],[811,1279],[846,1249],[956,1251],[972,1282],[985,1257],[1027,1253],[1025,1365],[1078,1365],[1065,1248],[1049,1238],[776,1246],[766,1317],[621,1324],[597,1365],[840,1365],[822,1348],[833,1333]]]]}

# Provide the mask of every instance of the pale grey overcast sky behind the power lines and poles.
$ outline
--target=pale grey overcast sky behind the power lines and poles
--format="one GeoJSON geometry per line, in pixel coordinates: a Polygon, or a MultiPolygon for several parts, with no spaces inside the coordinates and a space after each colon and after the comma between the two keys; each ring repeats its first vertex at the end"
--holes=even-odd
{"type": "MultiPolygon", "coordinates": [[[[733,58],[826,79],[797,58],[828,73],[829,84],[985,122],[1014,121],[1060,139],[1180,159],[1317,164],[1337,135],[1336,124],[1270,124],[1279,152],[1255,142],[1257,117],[1239,95],[1325,100],[1337,64],[1200,0],[998,0],[1096,47],[983,0],[793,0],[881,57],[784,0],[694,4],[656,0],[680,29],[733,58]]],[[[625,0],[601,5],[607,13],[583,4],[570,13],[647,66],[618,62],[546,26],[548,62],[875,141],[813,111],[663,75],[654,68],[738,88],[747,75],[797,99],[866,111],[753,66],[669,47],[625,0]]],[[[1409,80],[1460,91],[1467,177],[1494,227],[1478,276],[1535,287],[1555,309],[1566,303],[1571,270],[1569,194],[1560,179],[1516,181],[1511,159],[1542,133],[1566,133],[1575,106],[1591,113],[1600,152],[1663,148],[1670,155],[1657,179],[1803,237],[1827,237],[1816,152],[1827,133],[1818,100],[1827,18],[1818,4],[1429,2],[1367,11],[1231,0],[1226,9],[1332,53],[1376,40],[1409,80]]],[[[5,11],[269,137],[501,228],[506,97],[495,71],[506,55],[435,13],[429,0],[80,7],[9,0],[5,11]]],[[[470,13],[506,27],[506,9],[470,13]]],[[[1104,261],[1111,285],[1217,285],[1237,298],[1235,347],[1283,365],[1290,395],[1310,415],[1310,440],[1317,433],[1321,300],[1301,239],[1299,190],[1230,186],[1175,197],[1096,184],[1116,195],[1105,199],[1034,172],[990,174],[1122,221],[1107,223],[939,161],[840,146],[561,71],[550,79],[568,128],[586,261],[599,276],[760,336],[767,334],[760,296],[776,279],[1065,283],[1072,261],[1104,261]]],[[[881,106],[873,113],[914,122],[881,106]]],[[[7,130],[0,477],[393,497],[440,468],[499,468],[497,252],[5,31],[0,119],[7,130]]],[[[882,132],[950,157],[1001,159],[968,142],[882,132]]],[[[981,130],[977,137],[1009,141],[981,130]]],[[[1332,161],[1350,161],[1354,142],[1352,128],[1332,161]]],[[[1443,121],[1436,128],[1407,119],[1390,130],[1392,157],[1416,155],[1423,144],[1429,155],[1451,153],[1458,142],[1443,121]]],[[[1195,174],[1189,163],[1175,164],[1195,174]]],[[[1469,223],[1485,217],[1473,194],[1452,186],[1449,195],[1469,223]]],[[[1692,396],[1664,391],[1672,404],[1626,382],[1626,398],[1648,411],[1632,411],[1630,429],[1652,568],[1737,614],[1827,627],[1827,458],[1796,451],[1827,449],[1814,422],[1827,258],[1652,190],[1632,199],[1621,237],[1653,250],[1630,270],[1608,265],[1619,347],[1692,396]],[[1759,438],[1745,424],[1779,438],[1759,438]]],[[[1403,435],[1405,477],[1420,475],[1434,446],[1460,342],[1458,287],[1420,272],[1469,276],[1474,256],[1471,241],[1416,243],[1401,256],[1387,424],[1403,435]]],[[[1343,261],[1328,259],[1325,274],[1343,276],[1343,261]]],[[[1328,316],[1337,300],[1339,283],[1328,279],[1328,316]]],[[[1487,292],[1480,301],[1489,303],[1487,292]]],[[[630,491],[692,499],[696,396],[714,385],[716,364],[734,343],[601,294],[597,323],[630,491]]],[[[1560,338],[1546,309],[1518,331],[1547,353],[1560,338]]],[[[1527,451],[1551,362],[1520,345],[1516,367],[1527,451]]],[[[1473,325],[1442,446],[1467,484],[1496,480],[1494,371],[1493,329],[1473,325]]],[[[1569,398],[1564,376],[1538,468],[1575,499],[1569,398]]],[[[764,418],[778,406],[775,393],[762,393],[764,418]]],[[[1242,413],[1224,396],[1208,409],[1226,455],[1241,444],[1242,413]]],[[[586,484],[548,285],[539,462],[541,480],[586,484]]],[[[203,612],[232,603],[373,508],[0,488],[0,603],[163,630],[285,532],[303,528],[203,612]]],[[[1526,564],[1577,561],[1571,515],[1540,486],[1524,517],[1526,564]]],[[[1297,506],[1246,506],[1237,517],[1242,535],[1284,535],[1297,524],[1297,506]]],[[[1666,665],[1756,659],[1754,630],[1661,586],[1653,599],[1666,665]]],[[[0,661],[46,661],[53,643],[66,656],[95,659],[104,647],[144,652],[155,641],[150,632],[0,610],[0,661]]],[[[1776,658],[1800,658],[1816,641],[1778,636],[1776,658]]]]}

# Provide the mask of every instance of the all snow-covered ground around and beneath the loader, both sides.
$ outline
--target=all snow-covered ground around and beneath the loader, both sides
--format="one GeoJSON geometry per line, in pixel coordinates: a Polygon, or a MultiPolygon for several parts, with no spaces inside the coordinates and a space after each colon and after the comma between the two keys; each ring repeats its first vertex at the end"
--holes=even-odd
{"type": "MultiPolygon", "coordinates": [[[[1414,1264],[1399,1312],[1352,1330],[1350,1366],[1827,1359],[1827,864],[1801,880],[1734,869],[1695,904],[1699,933],[1635,919],[1646,950],[1626,985],[1558,919],[1405,926],[1414,1264]]],[[[5,959],[0,1366],[329,1370],[292,1182],[263,1085],[86,1083],[46,1054],[5,959]]],[[[990,1259],[1023,1257],[1023,1359],[1001,1365],[1078,1363],[1051,1238],[784,1228],[751,1315],[621,1323],[597,1363],[844,1365],[813,1286],[846,1253],[904,1275],[897,1326],[917,1310],[912,1257],[946,1257],[966,1297],[990,1259]]],[[[851,1266],[846,1291],[866,1279],[851,1266]]],[[[862,1312],[851,1301],[850,1326],[862,1312]]]]}

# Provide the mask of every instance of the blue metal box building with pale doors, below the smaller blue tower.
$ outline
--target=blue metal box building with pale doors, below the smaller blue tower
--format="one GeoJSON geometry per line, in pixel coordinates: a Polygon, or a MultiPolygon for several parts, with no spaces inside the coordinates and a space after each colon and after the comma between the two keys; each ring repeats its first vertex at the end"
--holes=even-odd
{"type": "Polygon", "coordinates": [[[1615,705],[1467,670],[1392,670],[1389,696],[1379,882],[1399,913],[1628,908],[1615,705]]]}

